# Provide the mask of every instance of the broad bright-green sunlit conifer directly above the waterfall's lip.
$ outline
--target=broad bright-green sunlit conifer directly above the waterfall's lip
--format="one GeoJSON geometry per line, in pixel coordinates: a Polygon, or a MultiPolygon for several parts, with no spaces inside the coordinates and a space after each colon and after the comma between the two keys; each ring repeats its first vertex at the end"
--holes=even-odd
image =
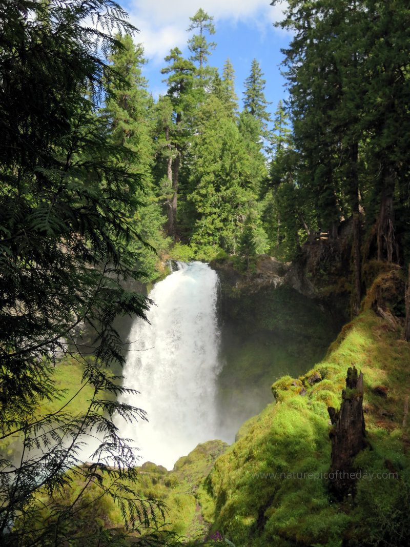
{"type": "Polygon", "coordinates": [[[209,258],[221,248],[236,252],[255,195],[250,156],[224,104],[209,97],[201,119],[192,145],[188,199],[196,211],[191,241],[198,247],[198,257],[209,258]]]}

